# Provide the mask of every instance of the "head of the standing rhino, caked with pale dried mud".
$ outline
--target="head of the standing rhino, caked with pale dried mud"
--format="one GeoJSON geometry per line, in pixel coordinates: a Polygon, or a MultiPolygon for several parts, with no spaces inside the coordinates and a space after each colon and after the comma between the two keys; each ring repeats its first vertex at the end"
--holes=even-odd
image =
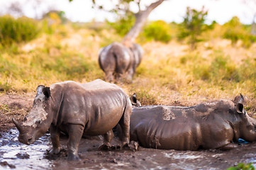
{"type": "Polygon", "coordinates": [[[52,123],[52,115],[49,114],[50,88],[40,85],[36,91],[33,107],[24,118],[24,122],[19,123],[14,118],[12,119],[19,131],[18,141],[26,145],[32,144],[43,136],[52,123]]]}

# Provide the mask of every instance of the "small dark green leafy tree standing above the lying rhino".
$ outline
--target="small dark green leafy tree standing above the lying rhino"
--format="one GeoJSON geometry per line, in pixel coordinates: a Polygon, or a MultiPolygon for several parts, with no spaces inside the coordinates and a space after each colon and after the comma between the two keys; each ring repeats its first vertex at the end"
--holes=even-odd
{"type": "Polygon", "coordinates": [[[204,7],[201,11],[196,11],[196,9],[187,7],[186,16],[180,25],[181,27],[178,37],[180,40],[189,38],[191,50],[194,50],[196,48],[196,42],[200,41],[199,35],[208,28],[204,23],[207,14],[208,11],[204,11],[204,7]]]}

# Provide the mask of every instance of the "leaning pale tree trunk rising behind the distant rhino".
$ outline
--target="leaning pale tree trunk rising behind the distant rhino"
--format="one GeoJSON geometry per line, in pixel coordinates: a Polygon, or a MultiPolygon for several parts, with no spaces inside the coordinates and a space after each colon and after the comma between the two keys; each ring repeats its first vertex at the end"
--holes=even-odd
{"type": "Polygon", "coordinates": [[[138,37],[140,30],[143,28],[145,21],[147,21],[147,18],[150,15],[150,12],[154,8],[156,8],[157,6],[162,4],[163,1],[165,1],[165,0],[156,1],[152,4],[150,4],[150,6],[148,6],[148,8],[145,9],[145,11],[139,11],[138,13],[136,13],[135,24],[134,24],[133,28],[131,28],[130,31],[126,34],[126,36],[123,38],[123,41],[122,41],[123,45],[125,45],[126,47],[130,47],[130,45],[133,42],[135,42],[135,38],[138,37]]]}

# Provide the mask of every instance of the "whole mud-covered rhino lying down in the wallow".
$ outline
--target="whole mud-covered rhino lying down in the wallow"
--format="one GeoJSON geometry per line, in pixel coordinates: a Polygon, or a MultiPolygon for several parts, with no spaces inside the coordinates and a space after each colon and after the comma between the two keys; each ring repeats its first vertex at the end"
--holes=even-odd
{"type": "Polygon", "coordinates": [[[256,120],[240,100],[201,103],[191,107],[142,106],[133,108],[130,140],[156,149],[232,149],[242,138],[256,141],[256,120]]]}

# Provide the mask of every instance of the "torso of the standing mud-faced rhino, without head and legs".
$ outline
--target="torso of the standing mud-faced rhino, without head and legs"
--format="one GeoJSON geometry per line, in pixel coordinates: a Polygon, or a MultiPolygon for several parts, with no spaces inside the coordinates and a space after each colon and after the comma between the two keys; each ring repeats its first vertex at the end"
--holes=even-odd
{"type": "Polygon", "coordinates": [[[63,99],[57,124],[84,126],[84,135],[100,135],[111,130],[123,115],[128,96],[115,84],[95,80],[87,84],[62,83],[63,99]]]}

